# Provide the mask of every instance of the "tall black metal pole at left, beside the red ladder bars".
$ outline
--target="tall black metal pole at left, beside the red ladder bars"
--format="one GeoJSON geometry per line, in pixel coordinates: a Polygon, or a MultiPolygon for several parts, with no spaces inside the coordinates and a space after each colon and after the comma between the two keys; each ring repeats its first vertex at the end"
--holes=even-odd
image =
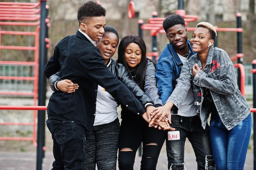
{"type": "MultiPolygon", "coordinates": [[[[39,73],[38,73],[38,106],[45,106],[46,99],[46,78],[43,73],[43,68],[47,60],[47,49],[45,38],[47,37],[47,18],[46,1],[40,0],[40,35],[39,35],[39,73]]],[[[38,125],[37,125],[37,156],[36,170],[42,170],[45,144],[45,110],[38,110],[38,125]]]]}

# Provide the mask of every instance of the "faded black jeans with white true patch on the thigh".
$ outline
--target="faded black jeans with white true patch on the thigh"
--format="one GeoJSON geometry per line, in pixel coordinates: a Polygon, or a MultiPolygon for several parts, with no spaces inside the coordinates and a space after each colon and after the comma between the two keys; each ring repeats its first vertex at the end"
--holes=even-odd
{"type": "Polygon", "coordinates": [[[186,138],[189,139],[195,152],[198,170],[214,169],[208,124],[206,128],[203,129],[198,115],[193,117],[172,115],[171,122],[172,124],[170,124],[170,126],[176,130],[167,131],[166,133],[168,169],[184,170],[184,144],[186,138]],[[170,133],[177,134],[178,132],[180,133],[180,139],[171,140],[170,133]]]}

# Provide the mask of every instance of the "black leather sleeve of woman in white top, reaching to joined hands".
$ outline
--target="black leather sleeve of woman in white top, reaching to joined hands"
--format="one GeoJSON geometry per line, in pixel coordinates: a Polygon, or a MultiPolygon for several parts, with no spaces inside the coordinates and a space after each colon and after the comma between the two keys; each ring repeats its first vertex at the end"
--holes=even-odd
{"type": "Polygon", "coordinates": [[[119,71],[121,82],[128,87],[128,89],[135,95],[135,97],[139,99],[139,101],[144,106],[147,103],[154,104],[154,102],[148,97],[148,95],[146,95],[146,93],[141,90],[138,84],[131,79],[129,72],[125,68],[125,66],[122,64],[118,64],[117,66],[119,67],[117,71],[119,71]]]}

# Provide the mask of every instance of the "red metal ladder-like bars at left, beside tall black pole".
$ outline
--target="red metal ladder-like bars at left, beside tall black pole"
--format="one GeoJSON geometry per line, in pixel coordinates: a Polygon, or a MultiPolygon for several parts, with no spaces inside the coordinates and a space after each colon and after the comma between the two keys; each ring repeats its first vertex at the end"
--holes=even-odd
{"type": "MultiPolygon", "coordinates": [[[[35,31],[6,31],[0,27],[0,66],[33,66],[34,75],[31,77],[15,76],[15,75],[1,75],[0,80],[24,80],[33,82],[32,92],[22,91],[0,91],[0,95],[18,95],[18,96],[32,96],[34,99],[34,106],[0,106],[0,109],[8,110],[34,110],[33,122],[0,122],[0,125],[19,125],[19,126],[33,126],[33,137],[0,137],[0,140],[28,140],[36,142],[36,124],[37,112],[36,110],[46,110],[46,106],[36,106],[38,100],[38,62],[39,62],[39,32],[40,32],[40,2],[0,2],[0,26],[36,26],[33,27],[35,31]],[[34,46],[11,46],[2,43],[2,35],[13,36],[34,36],[34,46]],[[32,62],[18,62],[18,61],[1,61],[1,50],[22,50],[34,51],[34,61],[32,62]]],[[[45,21],[49,26],[49,19],[45,21]]],[[[45,42],[49,46],[50,40],[45,38],[45,42]]]]}

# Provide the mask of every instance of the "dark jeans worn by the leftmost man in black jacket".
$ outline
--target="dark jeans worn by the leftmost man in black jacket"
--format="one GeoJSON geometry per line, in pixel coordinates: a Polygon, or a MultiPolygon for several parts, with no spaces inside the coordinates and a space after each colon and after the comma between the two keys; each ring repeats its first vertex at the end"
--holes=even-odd
{"type": "Polygon", "coordinates": [[[49,117],[46,124],[53,139],[52,170],[83,170],[85,127],[65,117],[49,117]]]}

